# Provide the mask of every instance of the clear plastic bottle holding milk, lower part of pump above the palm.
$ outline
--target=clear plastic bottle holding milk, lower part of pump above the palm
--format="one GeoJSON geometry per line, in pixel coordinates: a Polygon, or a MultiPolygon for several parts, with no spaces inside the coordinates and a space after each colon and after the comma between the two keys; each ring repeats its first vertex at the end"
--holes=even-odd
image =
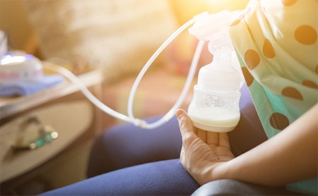
{"type": "Polygon", "coordinates": [[[194,126],[213,132],[233,130],[240,121],[240,75],[215,63],[199,71],[188,114],[194,126]]]}

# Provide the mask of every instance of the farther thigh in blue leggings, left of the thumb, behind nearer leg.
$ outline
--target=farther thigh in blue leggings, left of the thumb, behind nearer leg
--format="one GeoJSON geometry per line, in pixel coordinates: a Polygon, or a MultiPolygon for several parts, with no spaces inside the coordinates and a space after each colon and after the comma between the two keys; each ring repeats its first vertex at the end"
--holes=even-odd
{"type": "MultiPolygon", "coordinates": [[[[153,122],[159,117],[148,118],[153,122]]],[[[182,147],[177,118],[145,130],[132,124],[117,125],[100,135],[90,152],[88,177],[153,161],[176,159],[182,147]]]]}

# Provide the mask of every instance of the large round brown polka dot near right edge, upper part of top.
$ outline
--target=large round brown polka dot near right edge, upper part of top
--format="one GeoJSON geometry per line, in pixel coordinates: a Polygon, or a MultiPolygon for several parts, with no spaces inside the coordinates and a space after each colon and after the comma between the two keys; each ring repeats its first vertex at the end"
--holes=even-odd
{"type": "Polygon", "coordinates": [[[305,45],[314,44],[317,41],[317,32],[309,25],[302,25],[294,32],[295,39],[305,45]]]}

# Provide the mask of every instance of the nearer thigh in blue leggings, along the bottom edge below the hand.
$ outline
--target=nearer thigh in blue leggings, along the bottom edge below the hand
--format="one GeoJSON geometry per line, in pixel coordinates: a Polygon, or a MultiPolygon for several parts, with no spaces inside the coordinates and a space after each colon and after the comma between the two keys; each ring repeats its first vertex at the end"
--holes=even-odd
{"type": "Polygon", "coordinates": [[[199,184],[179,159],[131,166],[44,195],[191,195],[199,184]]]}

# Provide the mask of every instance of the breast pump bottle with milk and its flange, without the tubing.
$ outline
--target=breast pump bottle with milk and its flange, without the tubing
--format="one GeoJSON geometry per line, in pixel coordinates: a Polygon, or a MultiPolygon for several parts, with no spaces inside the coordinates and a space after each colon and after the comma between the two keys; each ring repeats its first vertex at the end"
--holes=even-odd
{"type": "Polygon", "coordinates": [[[220,133],[233,130],[240,121],[240,73],[231,65],[234,49],[226,14],[201,13],[189,29],[196,38],[209,41],[213,61],[199,71],[188,114],[196,128],[220,133]]]}

